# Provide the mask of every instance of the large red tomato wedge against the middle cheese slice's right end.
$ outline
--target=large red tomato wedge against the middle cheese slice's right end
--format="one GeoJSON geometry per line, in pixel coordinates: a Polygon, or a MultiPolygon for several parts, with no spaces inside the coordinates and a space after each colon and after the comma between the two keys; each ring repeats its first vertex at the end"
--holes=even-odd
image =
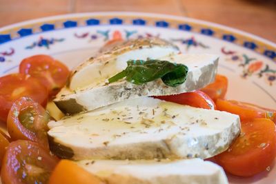
{"type": "Polygon", "coordinates": [[[230,174],[253,176],[266,170],[275,156],[275,124],[269,119],[254,119],[242,123],[241,136],[215,160],[230,174]]]}

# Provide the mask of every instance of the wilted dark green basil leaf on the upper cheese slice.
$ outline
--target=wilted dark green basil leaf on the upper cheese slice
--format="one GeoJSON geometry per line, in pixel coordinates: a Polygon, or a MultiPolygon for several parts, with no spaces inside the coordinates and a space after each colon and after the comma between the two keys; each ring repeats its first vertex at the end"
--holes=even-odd
{"type": "Polygon", "coordinates": [[[161,60],[130,60],[128,66],[122,72],[112,76],[110,83],[126,77],[130,83],[141,85],[156,79],[161,80],[168,86],[177,87],[186,81],[188,67],[186,65],[170,63],[161,60]]]}

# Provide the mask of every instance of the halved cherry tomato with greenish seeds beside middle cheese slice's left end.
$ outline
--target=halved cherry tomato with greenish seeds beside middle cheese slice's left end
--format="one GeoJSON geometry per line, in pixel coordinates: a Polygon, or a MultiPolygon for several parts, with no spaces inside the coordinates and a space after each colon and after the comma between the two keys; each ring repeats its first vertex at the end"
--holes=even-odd
{"type": "Polygon", "coordinates": [[[14,102],[7,119],[8,132],[12,141],[30,140],[48,147],[47,123],[50,115],[39,103],[28,97],[14,102]]]}

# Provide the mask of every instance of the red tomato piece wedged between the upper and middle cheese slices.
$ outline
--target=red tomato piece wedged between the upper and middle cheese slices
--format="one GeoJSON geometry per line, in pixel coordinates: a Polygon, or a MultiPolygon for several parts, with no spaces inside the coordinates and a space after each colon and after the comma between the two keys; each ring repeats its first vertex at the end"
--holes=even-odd
{"type": "Polygon", "coordinates": [[[216,106],[214,101],[204,92],[200,90],[194,92],[184,92],[181,94],[168,95],[168,96],[154,96],[157,99],[179,103],[182,105],[190,105],[195,108],[204,108],[215,110],[216,106]]]}

